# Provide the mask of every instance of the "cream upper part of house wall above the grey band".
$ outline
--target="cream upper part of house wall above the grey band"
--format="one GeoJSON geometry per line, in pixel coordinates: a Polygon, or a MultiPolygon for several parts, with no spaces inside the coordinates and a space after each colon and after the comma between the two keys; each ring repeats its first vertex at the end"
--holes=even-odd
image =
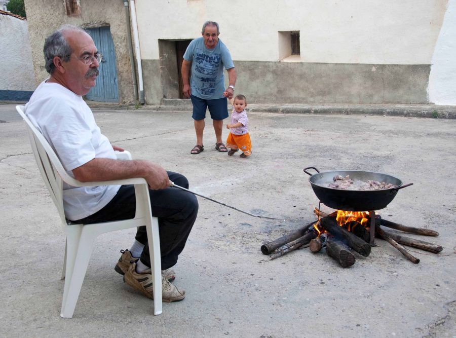
{"type": "Polygon", "coordinates": [[[142,59],[158,39],[217,21],[233,59],[278,61],[279,31],[300,31],[302,62],[430,64],[448,0],[136,0],[142,59]]]}

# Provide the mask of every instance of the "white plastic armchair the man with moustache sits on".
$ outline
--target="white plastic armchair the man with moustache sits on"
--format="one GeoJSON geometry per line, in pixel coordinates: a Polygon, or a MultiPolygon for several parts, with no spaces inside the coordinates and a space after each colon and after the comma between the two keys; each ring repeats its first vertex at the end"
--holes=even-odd
{"type": "MultiPolygon", "coordinates": [[[[161,314],[162,280],[158,218],[153,217],[151,213],[146,180],[144,178],[129,178],[115,181],[83,183],[72,178],[64,170],[63,165],[60,163],[60,160],[48,141],[25,115],[25,106],[18,105],[16,106],[16,109],[27,125],[33,155],[35,156],[40,173],[49,190],[49,194],[57,207],[62,221],[62,228],[66,234],[65,256],[62,271],[62,279],[65,278],[65,285],[63,288],[60,316],[64,318],[71,318],[73,316],[84,276],[86,275],[95,238],[98,235],[107,232],[140,226],[145,226],[147,229],[147,240],[154,283],[154,314],[161,314]],[[136,194],[135,218],[93,224],[67,222],[63,212],[63,181],[72,186],[134,184],[136,194]]],[[[116,152],[116,155],[118,159],[131,159],[129,152],[116,152]]]]}

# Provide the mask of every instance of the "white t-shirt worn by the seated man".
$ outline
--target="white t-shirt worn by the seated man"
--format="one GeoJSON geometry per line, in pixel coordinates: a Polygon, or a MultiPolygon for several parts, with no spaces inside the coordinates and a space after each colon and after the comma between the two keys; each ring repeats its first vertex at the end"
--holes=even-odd
{"type": "MultiPolygon", "coordinates": [[[[80,95],[56,83],[42,82],[25,105],[25,114],[43,134],[68,175],[94,158],[116,155],[89,106],[80,95]]],[[[102,209],[117,194],[120,185],[74,187],[63,183],[65,216],[77,220],[102,209]]]]}

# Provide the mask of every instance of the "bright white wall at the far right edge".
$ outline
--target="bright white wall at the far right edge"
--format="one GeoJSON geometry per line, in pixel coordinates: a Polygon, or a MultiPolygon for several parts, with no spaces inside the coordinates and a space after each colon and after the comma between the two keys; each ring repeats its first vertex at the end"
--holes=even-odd
{"type": "Polygon", "coordinates": [[[456,105],[456,0],[450,0],[429,74],[429,101],[456,105]]]}

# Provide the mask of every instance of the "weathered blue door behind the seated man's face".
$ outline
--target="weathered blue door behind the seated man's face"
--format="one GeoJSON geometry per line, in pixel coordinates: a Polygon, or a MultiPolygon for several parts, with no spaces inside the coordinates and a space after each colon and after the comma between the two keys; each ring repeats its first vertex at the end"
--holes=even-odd
{"type": "Polygon", "coordinates": [[[103,54],[103,58],[98,68],[100,74],[96,85],[86,95],[86,98],[99,102],[119,102],[116,53],[111,31],[109,27],[90,28],[87,31],[92,36],[98,52],[103,54]]]}

